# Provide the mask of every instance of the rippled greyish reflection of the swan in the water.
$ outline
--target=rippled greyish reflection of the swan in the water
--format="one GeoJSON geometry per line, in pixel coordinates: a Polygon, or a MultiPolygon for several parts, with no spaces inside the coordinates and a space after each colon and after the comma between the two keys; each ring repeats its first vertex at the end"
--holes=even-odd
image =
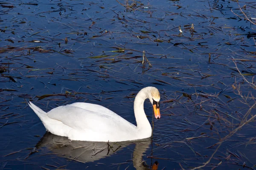
{"type": "Polygon", "coordinates": [[[111,156],[117,150],[127,147],[130,144],[136,144],[133,152],[133,166],[137,170],[157,170],[158,162],[148,166],[143,161],[145,151],[149,148],[151,141],[134,141],[134,142],[87,142],[71,141],[64,136],[45,133],[36,148],[47,147],[53,153],[59,156],[79,162],[93,162],[99,159],[111,156]]]}

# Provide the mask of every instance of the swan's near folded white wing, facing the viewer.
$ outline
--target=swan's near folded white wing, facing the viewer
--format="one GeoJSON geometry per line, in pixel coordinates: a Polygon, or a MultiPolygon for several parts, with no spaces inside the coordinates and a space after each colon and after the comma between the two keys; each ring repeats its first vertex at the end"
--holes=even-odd
{"type": "Polygon", "coordinates": [[[108,114],[108,111],[110,110],[99,113],[66,105],[52,109],[47,115],[76,130],[111,133],[135,127],[116,113],[111,113],[112,111],[108,114]]]}

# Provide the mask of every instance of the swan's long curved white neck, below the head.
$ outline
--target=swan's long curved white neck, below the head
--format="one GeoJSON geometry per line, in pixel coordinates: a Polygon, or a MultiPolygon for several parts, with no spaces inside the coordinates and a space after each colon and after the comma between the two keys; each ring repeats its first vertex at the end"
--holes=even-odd
{"type": "Polygon", "coordinates": [[[143,88],[135,97],[134,115],[137,122],[137,129],[142,130],[143,132],[151,133],[152,128],[144,111],[144,101],[145,99],[148,99],[148,90],[148,87],[143,88]]]}

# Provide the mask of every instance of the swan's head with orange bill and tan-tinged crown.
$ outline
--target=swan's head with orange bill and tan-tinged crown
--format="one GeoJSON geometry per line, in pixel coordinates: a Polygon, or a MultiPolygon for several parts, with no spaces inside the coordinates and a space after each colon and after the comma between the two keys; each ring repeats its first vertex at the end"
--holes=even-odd
{"type": "Polygon", "coordinates": [[[151,87],[148,99],[153,105],[155,118],[160,119],[160,93],[157,88],[151,87]]]}

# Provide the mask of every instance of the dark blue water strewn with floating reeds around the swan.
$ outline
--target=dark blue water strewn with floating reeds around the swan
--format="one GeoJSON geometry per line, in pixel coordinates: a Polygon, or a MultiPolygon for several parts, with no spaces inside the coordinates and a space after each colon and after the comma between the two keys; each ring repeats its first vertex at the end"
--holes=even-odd
{"type": "MultiPolygon", "coordinates": [[[[158,161],[159,170],[192,169],[209,160],[216,149],[209,146],[239,126],[254,100],[241,103],[233,89],[232,85],[244,81],[232,59],[240,59],[238,67],[252,80],[256,35],[254,25],[233,14],[243,17],[238,4],[128,3],[125,8],[115,0],[0,2],[1,168],[143,170],[158,161]],[[115,52],[119,49],[124,52],[115,52]],[[143,51],[151,68],[141,63],[143,51]],[[152,140],[113,144],[121,147],[110,153],[106,143],[45,134],[27,105],[31,100],[49,111],[91,102],[136,124],[133,97],[146,86],[157,87],[161,101],[172,99],[161,103],[162,116],[154,119],[152,140]],[[38,100],[46,94],[56,96],[38,100]],[[90,148],[105,149],[93,155],[90,148]]],[[[255,13],[255,2],[239,1],[239,5],[246,5],[244,13],[255,13]]],[[[255,95],[246,83],[241,83],[241,91],[255,95]]],[[[145,112],[151,121],[148,101],[145,112]]],[[[238,169],[244,162],[254,168],[254,127],[251,122],[226,139],[203,169],[238,169]]]]}

